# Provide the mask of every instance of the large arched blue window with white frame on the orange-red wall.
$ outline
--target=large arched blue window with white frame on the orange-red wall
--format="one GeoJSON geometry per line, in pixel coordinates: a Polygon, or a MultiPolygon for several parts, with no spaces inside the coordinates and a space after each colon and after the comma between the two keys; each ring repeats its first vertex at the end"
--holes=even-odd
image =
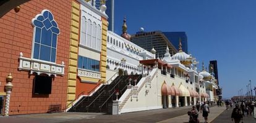
{"type": "Polygon", "coordinates": [[[32,58],[55,63],[59,28],[53,14],[49,10],[43,10],[32,19],[32,25],[32,58]]]}

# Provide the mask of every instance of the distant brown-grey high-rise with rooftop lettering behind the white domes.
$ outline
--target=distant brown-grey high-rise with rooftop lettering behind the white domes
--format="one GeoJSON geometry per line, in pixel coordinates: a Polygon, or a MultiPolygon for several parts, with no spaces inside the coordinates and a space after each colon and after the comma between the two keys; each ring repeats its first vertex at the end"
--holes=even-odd
{"type": "Polygon", "coordinates": [[[131,36],[130,41],[148,51],[154,47],[156,57],[159,56],[160,58],[163,57],[166,52],[166,44],[168,45],[170,54],[176,54],[177,52],[173,42],[169,41],[166,35],[161,31],[145,32],[143,28],[141,28],[139,32],[131,36]]]}

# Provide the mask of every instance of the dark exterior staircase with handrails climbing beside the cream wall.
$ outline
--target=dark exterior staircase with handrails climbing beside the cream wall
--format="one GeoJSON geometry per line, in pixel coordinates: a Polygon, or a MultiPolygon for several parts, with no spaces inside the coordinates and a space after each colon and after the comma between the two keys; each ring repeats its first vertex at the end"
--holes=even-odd
{"type": "Polygon", "coordinates": [[[116,92],[119,92],[120,98],[126,91],[129,78],[132,79],[130,84],[135,85],[134,80],[139,82],[142,75],[117,76],[111,84],[102,85],[91,97],[82,97],[68,112],[108,113],[109,104],[116,100],[116,92]]]}

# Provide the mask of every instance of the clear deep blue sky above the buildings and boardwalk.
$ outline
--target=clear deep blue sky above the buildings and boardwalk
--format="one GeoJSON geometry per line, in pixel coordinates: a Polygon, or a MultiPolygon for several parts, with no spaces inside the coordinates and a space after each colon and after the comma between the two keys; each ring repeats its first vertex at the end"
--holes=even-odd
{"type": "MultiPolygon", "coordinates": [[[[186,31],[189,52],[200,62],[217,60],[223,97],[256,85],[255,0],[115,0],[114,31],[186,31]]],[[[255,94],[255,92],[254,92],[255,94]]]]}

